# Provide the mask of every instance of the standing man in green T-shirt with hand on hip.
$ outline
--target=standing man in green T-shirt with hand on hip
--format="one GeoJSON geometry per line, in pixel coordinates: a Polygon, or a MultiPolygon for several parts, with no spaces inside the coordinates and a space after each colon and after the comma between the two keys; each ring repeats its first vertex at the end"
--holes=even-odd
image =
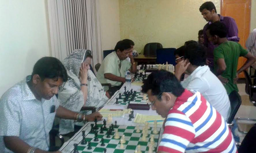
{"type": "Polygon", "coordinates": [[[255,62],[255,57],[247,52],[243,47],[234,42],[228,41],[224,23],[214,22],[210,24],[206,31],[209,41],[214,45],[219,45],[214,49],[214,72],[224,84],[228,95],[233,91],[238,91],[238,74],[255,62]],[[247,58],[246,63],[237,71],[238,58],[247,58]]]}

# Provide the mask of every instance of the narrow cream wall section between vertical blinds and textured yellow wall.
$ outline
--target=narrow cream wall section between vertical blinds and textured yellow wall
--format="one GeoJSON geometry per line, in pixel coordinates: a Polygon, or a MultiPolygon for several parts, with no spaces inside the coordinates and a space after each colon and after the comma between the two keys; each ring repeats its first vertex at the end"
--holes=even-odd
{"type": "Polygon", "coordinates": [[[101,48],[114,49],[120,40],[118,0],[100,0],[101,48]]]}

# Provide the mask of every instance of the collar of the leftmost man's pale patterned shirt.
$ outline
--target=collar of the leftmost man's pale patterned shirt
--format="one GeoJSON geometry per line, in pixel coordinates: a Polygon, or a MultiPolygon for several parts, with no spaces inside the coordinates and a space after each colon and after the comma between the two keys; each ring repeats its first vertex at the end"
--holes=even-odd
{"type": "Polygon", "coordinates": [[[23,100],[35,100],[35,96],[33,92],[28,87],[27,82],[31,80],[31,75],[28,75],[23,81],[22,81],[22,99],[23,100]]]}

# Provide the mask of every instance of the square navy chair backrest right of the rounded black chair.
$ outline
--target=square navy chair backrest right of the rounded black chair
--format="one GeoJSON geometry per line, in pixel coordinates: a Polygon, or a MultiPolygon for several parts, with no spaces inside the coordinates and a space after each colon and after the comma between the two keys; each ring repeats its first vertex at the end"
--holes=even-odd
{"type": "Polygon", "coordinates": [[[176,48],[161,48],[156,50],[156,63],[176,65],[174,51],[176,48]]]}

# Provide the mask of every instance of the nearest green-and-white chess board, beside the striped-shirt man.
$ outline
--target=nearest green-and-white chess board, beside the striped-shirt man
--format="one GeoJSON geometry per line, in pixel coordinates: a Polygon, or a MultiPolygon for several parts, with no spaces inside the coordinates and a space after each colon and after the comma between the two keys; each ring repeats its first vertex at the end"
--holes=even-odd
{"type": "MultiPolygon", "coordinates": [[[[103,126],[102,124],[98,124],[98,127],[103,126]]],[[[109,125],[106,126],[107,128],[109,125]]],[[[114,131],[110,135],[110,138],[106,137],[106,132],[107,130],[104,130],[103,133],[101,134],[100,131],[98,131],[98,139],[99,141],[94,141],[95,134],[90,133],[90,126],[88,125],[87,128],[84,128],[85,130],[85,138],[86,138],[86,145],[82,145],[82,131],[80,131],[76,137],[79,137],[80,142],[78,143],[77,150],[79,153],[99,153],[103,152],[103,150],[106,148],[107,153],[134,153],[136,149],[138,149],[138,145],[141,146],[141,152],[142,153],[147,153],[148,152],[148,146],[150,144],[150,137],[153,134],[153,128],[151,127],[148,130],[148,136],[146,137],[146,141],[142,141],[142,129],[143,126],[139,126],[140,132],[136,132],[135,126],[127,126],[127,125],[117,125],[117,128],[114,128],[114,131]],[[120,138],[115,139],[114,138],[114,133],[115,131],[118,130],[118,134],[121,138],[122,135],[125,135],[125,140],[126,143],[123,143],[124,148],[121,149],[121,143],[120,143],[120,138]],[[104,144],[105,146],[101,146],[101,138],[104,138],[104,144]],[[88,150],[88,141],[91,142],[91,147],[92,149],[88,150]]],[[[155,153],[158,147],[158,144],[160,143],[161,140],[161,135],[162,135],[162,128],[157,128],[158,134],[154,134],[154,150],[153,152],[155,153]]],[[[61,150],[60,150],[61,151],[61,150]]],[[[70,152],[73,153],[73,150],[70,152]]]]}

